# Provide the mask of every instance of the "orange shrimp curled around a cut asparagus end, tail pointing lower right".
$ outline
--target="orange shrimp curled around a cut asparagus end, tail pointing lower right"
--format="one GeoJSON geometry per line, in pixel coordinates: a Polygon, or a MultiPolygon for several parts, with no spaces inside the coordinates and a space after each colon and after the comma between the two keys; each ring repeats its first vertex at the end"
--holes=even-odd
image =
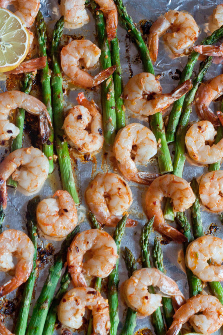
{"type": "Polygon", "coordinates": [[[149,219],[155,216],[154,229],[177,242],[183,242],[186,240],[185,236],[164,220],[161,210],[161,201],[164,197],[172,199],[174,212],[184,212],[194,203],[195,195],[186,180],[174,175],[156,178],[146,193],[145,210],[149,219]]]}

